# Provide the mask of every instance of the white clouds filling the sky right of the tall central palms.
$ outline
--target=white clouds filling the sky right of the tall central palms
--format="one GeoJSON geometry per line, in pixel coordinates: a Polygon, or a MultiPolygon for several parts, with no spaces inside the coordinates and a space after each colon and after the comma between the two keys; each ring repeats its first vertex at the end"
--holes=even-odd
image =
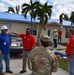
{"type": "Polygon", "coordinates": [[[53,2],[53,13],[55,16],[53,18],[59,18],[61,13],[70,13],[74,11],[74,0],[51,0],[53,2]]]}

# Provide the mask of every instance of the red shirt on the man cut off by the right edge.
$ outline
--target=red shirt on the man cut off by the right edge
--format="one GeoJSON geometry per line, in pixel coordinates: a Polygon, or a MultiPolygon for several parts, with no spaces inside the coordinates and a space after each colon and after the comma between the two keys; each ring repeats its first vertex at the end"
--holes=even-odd
{"type": "Polygon", "coordinates": [[[66,54],[71,54],[72,48],[74,48],[74,36],[72,36],[66,46],[66,54]]]}

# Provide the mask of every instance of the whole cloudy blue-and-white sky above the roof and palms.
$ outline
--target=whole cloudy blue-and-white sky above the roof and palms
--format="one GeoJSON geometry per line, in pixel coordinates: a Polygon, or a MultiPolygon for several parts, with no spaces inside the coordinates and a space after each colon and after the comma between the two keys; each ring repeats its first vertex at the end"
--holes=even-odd
{"type": "MultiPolygon", "coordinates": [[[[74,11],[74,0],[33,0],[39,1],[42,4],[48,2],[52,5],[52,16],[53,19],[58,19],[61,13],[66,13],[69,16],[71,12],[74,11]]],[[[0,12],[8,10],[8,7],[13,7],[15,9],[16,5],[22,5],[23,3],[29,3],[30,0],[0,0],[0,12]]],[[[20,11],[21,12],[21,11],[20,11]]]]}

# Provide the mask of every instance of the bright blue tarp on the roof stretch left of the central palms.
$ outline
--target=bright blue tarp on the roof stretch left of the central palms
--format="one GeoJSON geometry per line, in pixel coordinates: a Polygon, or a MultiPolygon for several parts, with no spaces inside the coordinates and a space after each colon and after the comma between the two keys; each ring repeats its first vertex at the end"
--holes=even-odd
{"type": "MultiPolygon", "coordinates": [[[[30,17],[28,18],[30,19],[30,17]]],[[[27,19],[25,19],[23,15],[6,12],[0,12],[0,20],[27,21],[27,19]]]]}

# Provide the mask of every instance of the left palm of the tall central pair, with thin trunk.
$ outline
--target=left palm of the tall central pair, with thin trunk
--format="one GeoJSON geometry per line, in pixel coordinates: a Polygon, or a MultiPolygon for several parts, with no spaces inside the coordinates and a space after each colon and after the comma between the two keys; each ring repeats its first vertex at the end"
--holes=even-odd
{"type": "Polygon", "coordinates": [[[38,6],[39,2],[35,1],[32,2],[32,0],[30,0],[30,4],[24,3],[22,4],[22,14],[24,15],[25,18],[27,18],[27,14],[29,13],[31,16],[31,29],[32,29],[32,18],[35,19],[36,16],[34,16],[34,11],[36,6],[38,6]]]}

